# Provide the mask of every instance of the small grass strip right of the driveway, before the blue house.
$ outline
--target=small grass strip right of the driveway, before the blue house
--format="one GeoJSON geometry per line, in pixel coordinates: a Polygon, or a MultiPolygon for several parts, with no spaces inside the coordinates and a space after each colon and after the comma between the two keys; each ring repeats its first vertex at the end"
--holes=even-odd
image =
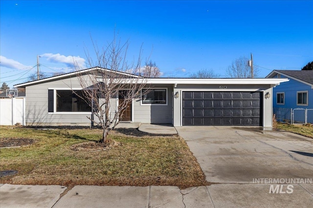
{"type": "Polygon", "coordinates": [[[291,125],[291,124],[277,123],[275,127],[277,129],[285,130],[287,132],[293,132],[293,133],[297,133],[303,136],[313,138],[313,126],[311,124],[291,125]]]}

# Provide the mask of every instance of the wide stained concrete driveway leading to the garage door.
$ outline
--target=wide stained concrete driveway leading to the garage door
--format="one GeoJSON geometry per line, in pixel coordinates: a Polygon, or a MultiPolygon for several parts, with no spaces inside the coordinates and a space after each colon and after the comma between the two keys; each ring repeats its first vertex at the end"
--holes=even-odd
{"type": "Polygon", "coordinates": [[[176,129],[209,182],[254,183],[262,178],[313,180],[311,138],[253,127],[176,129]]]}

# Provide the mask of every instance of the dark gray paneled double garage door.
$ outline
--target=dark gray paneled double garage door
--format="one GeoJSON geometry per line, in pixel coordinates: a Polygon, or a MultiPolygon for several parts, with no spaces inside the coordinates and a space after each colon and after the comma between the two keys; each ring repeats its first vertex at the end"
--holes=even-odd
{"type": "Polygon", "coordinates": [[[262,126],[262,92],[183,92],[183,126],[262,126]]]}

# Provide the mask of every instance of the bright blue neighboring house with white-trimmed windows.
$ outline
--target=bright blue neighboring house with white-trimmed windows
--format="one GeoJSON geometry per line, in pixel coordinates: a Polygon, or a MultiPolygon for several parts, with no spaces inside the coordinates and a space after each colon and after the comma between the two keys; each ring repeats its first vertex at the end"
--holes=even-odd
{"type": "MultiPolygon", "coordinates": [[[[313,71],[274,70],[266,78],[289,79],[273,88],[273,113],[278,118],[284,114],[285,119],[290,120],[291,109],[298,109],[293,111],[294,118],[298,117],[298,123],[304,123],[305,110],[299,109],[313,109],[313,71]]],[[[313,110],[307,110],[307,122],[313,123],[313,110]]]]}

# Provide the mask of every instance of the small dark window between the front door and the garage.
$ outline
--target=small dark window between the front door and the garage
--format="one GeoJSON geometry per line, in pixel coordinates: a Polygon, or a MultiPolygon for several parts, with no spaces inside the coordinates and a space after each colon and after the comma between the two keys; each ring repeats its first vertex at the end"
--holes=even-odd
{"type": "Polygon", "coordinates": [[[167,104],[167,89],[143,89],[142,94],[142,104],[167,104]]]}

